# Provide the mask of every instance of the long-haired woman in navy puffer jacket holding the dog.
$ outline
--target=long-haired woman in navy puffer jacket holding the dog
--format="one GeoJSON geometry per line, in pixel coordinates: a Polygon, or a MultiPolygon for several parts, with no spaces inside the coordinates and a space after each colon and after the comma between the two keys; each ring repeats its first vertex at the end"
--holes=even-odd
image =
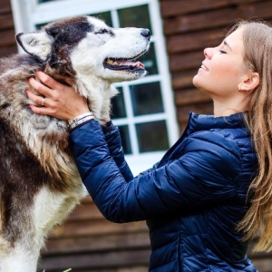
{"type": "Polygon", "coordinates": [[[44,73],[38,77],[49,87],[30,80],[46,97],[34,112],[75,122],[73,155],[104,217],[147,221],[150,271],[257,271],[246,252],[259,229],[257,249],[271,249],[271,37],[266,24],[240,22],[204,50],[193,83],[211,97],[214,115],[190,113],[180,140],[135,178],[110,117],[103,130],[88,113],[77,122],[90,110],[73,88],[44,73]]]}

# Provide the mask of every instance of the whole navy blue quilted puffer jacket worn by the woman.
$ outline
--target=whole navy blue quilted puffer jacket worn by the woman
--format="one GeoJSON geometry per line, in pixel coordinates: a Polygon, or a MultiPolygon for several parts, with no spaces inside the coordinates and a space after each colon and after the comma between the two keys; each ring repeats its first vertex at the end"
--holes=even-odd
{"type": "Polygon", "coordinates": [[[104,217],[147,220],[150,271],[257,271],[236,231],[257,169],[242,113],[190,113],[180,140],[136,178],[115,127],[104,135],[90,121],[72,131],[71,143],[83,183],[104,217]]]}

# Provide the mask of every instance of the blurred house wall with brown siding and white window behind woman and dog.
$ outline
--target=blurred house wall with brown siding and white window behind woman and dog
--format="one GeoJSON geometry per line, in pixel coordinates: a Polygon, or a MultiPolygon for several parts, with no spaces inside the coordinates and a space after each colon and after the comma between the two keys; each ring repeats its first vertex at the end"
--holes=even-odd
{"type": "MultiPolygon", "coordinates": [[[[137,175],[179,138],[188,112],[212,113],[209,98],[191,83],[204,59],[203,49],[220,44],[228,26],[238,19],[272,21],[272,1],[1,0],[0,57],[22,53],[16,33],[36,31],[74,15],[94,15],[112,27],[151,30],[151,50],[140,60],[148,75],[116,84],[120,94],[112,101],[112,119],[137,175]]],[[[272,254],[254,254],[252,246],[248,255],[259,272],[272,272],[272,254]]],[[[87,198],[50,234],[39,271],[71,267],[73,272],[143,272],[148,270],[150,253],[145,222],[110,223],[87,198]]]]}

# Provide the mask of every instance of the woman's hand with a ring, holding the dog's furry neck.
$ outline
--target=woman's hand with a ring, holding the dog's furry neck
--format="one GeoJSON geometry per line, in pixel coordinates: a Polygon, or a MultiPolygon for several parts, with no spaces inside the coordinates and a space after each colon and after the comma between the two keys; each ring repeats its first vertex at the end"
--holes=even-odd
{"type": "Polygon", "coordinates": [[[30,90],[25,91],[33,102],[40,105],[29,105],[33,112],[50,115],[63,121],[69,121],[84,112],[90,112],[86,99],[73,87],[58,83],[43,72],[37,72],[36,75],[42,83],[34,78],[29,79],[29,83],[43,96],[36,95],[30,90]]]}

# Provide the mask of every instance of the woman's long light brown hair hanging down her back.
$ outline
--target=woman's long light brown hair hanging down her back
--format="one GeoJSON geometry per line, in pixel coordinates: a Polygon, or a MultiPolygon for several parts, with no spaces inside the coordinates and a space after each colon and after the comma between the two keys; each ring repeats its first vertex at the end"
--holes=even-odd
{"type": "Polygon", "coordinates": [[[256,251],[272,250],[272,28],[264,22],[241,21],[230,31],[243,27],[245,63],[259,74],[260,83],[250,92],[246,121],[257,153],[257,175],[248,196],[250,207],[238,229],[245,239],[258,233],[256,251]]]}

